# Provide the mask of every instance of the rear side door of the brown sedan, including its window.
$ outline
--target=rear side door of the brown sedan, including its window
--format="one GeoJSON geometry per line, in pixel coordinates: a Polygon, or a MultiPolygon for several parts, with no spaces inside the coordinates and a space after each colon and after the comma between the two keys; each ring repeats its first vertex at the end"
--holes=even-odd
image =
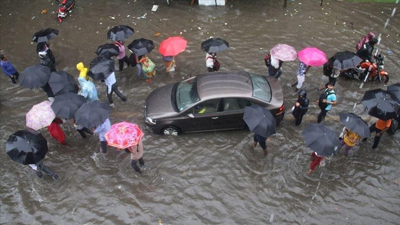
{"type": "Polygon", "coordinates": [[[244,108],[249,106],[245,99],[225,98],[222,103],[223,110],[219,115],[217,124],[214,126],[219,130],[245,128],[243,120],[244,108]]]}

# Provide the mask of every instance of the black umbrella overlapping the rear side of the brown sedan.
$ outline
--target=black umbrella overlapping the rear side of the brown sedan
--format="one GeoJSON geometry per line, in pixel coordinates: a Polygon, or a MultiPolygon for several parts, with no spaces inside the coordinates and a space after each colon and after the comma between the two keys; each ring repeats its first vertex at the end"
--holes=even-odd
{"type": "Polygon", "coordinates": [[[245,107],[243,120],[251,131],[264,138],[276,133],[276,119],[269,110],[257,104],[245,107]]]}

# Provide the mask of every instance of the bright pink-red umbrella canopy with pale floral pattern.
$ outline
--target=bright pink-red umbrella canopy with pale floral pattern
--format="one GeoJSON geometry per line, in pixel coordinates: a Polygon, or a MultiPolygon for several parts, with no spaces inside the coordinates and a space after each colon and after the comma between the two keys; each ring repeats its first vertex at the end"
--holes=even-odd
{"type": "Polygon", "coordinates": [[[104,137],[108,145],[124,149],[138,144],[143,137],[143,132],[138,124],[120,122],[113,124],[104,137]]]}

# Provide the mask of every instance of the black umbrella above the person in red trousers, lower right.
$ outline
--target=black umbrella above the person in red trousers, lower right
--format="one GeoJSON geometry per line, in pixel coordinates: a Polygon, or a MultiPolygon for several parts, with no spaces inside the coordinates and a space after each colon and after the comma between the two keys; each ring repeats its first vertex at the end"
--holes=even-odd
{"type": "Polygon", "coordinates": [[[307,147],[322,156],[331,156],[340,147],[335,131],[322,124],[309,123],[303,130],[303,138],[307,147]]]}

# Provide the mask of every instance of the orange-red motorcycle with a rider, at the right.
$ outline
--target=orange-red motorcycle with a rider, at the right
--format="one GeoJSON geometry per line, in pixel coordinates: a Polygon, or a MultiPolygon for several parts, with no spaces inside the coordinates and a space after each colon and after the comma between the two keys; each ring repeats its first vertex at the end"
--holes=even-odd
{"type": "Polygon", "coordinates": [[[341,75],[345,78],[355,79],[358,81],[380,81],[383,84],[387,84],[389,81],[389,74],[383,70],[383,59],[384,56],[374,56],[376,63],[363,61],[356,68],[351,68],[341,72],[341,75]],[[366,77],[368,75],[368,77],[366,77]]]}

